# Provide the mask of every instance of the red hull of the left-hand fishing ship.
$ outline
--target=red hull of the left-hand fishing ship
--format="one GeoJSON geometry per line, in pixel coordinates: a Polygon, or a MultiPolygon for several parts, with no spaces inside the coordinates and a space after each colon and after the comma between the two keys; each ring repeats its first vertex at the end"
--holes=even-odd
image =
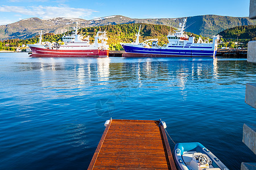
{"type": "Polygon", "coordinates": [[[30,46],[30,57],[108,57],[109,50],[55,50],[30,46]]]}

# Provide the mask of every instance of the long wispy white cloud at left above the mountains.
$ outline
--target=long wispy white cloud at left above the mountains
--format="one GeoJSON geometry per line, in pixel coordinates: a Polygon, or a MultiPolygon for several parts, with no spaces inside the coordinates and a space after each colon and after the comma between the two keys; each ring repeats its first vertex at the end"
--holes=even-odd
{"type": "Polygon", "coordinates": [[[92,15],[93,12],[98,12],[85,8],[72,8],[66,6],[0,6],[0,12],[13,12],[23,15],[36,16],[39,18],[84,18],[92,15]]]}

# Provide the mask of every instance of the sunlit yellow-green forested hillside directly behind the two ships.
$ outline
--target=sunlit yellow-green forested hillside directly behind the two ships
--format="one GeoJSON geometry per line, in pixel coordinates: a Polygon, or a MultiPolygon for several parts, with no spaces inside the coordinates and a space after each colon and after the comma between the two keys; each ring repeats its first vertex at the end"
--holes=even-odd
{"type": "MultiPolygon", "coordinates": [[[[135,33],[139,30],[139,25],[141,25],[141,37],[140,42],[147,39],[158,39],[159,45],[163,45],[167,43],[167,35],[168,33],[174,32],[175,28],[168,27],[166,25],[154,25],[154,24],[118,24],[118,25],[103,25],[99,27],[89,27],[89,28],[81,28],[79,29],[79,34],[82,33],[84,37],[90,36],[90,42],[93,42],[94,36],[98,31],[107,31],[108,33],[108,44],[110,50],[121,50],[122,46],[119,42],[134,42],[136,37],[135,33]]],[[[65,35],[71,34],[72,31],[65,32],[65,35]]],[[[199,38],[199,35],[195,35],[193,33],[188,33],[189,36],[193,35],[196,39],[199,38]]],[[[54,34],[54,33],[46,33],[42,36],[42,41],[49,42],[60,42],[63,34],[54,34]]],[[[203,40],[206,37],[203,37],[203,40]]],[[[31,39],[19,40],[19,39],[11,39],[0,41],[0,49],[5,50],[14,50],[14,47],[22,46],[23,44],[35,44],[39,41],[39,35],[33,37],[31,39]],[[8,46],[6,46],[8,44],[8,46]]]]}

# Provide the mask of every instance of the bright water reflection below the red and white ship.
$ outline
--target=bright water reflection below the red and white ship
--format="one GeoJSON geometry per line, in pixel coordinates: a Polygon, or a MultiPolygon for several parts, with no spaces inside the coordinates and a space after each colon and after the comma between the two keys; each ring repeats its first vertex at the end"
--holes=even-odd
{"type": "Polygon", "coordinates": [[[67,58],[38,58],[38,61],[23,69],[39,71],[38,81],[45,89],[81,88],[89,82],[105,84],[109,80],[110,58],[76,58],[75,61],[72,59],[73,65],[67,58]]]}

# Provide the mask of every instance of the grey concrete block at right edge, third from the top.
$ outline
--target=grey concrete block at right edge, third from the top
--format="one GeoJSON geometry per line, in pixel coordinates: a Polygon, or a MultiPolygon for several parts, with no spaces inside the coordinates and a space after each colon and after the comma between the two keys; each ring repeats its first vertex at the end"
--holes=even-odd
{"type": "Polygon", "coordinates": [[[256,109],[256,83],[246,84],[245,103],[256,109]]]}

